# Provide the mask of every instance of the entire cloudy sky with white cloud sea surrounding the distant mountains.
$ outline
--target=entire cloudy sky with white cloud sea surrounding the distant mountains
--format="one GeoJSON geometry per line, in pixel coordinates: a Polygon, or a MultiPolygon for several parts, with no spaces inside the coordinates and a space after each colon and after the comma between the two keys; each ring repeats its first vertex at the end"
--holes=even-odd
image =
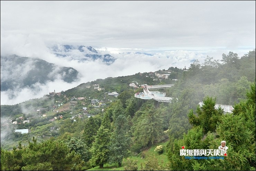
{"type": "MultiPolygon", "coordinates": [[[[221,59],[229,51],[239,57],[255,49],[255,1],[0,1],[1,56],[41,58],[73,67],[80,80],[60,80],[38,91],[16,90],[1,104],[42,97],[54,89],[76,87],[98,78],[118,77],[169,67],[187,68],[208,55],[221,59]],[[48,47],[60,44],[92,46],[117,60],[78,62],[81,54],[60,59],[48,47]],[[143,54],[126,52],[145,52],[143,54]],[[73,60],[71,60],[73,59],[73,60]],[[88,74],[90,72],[90,74],[88,74]]],[[[4,72],[3,72],[4,73],[4,72]]],[[[4,77],[1,70],[1,79],[4,77]]]]}

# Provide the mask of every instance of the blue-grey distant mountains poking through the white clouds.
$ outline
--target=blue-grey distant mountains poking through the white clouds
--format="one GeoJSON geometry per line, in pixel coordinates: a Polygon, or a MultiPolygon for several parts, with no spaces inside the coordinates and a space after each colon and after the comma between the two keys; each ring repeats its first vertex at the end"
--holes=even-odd
{"type": "MultiPolygon", "coordinates": [[[[79,51],[79,61],[102,60],[110,65],[115,58],[110,54],[101,54],[91,46],[59,45],[49,48],[57,57],[66,58],[68,52],[79,51]],[[64,53],[63,53],[64,52],[64,53]]],[[[17,55],[1,56],[1,91],[36,88],[36,84],[45,84],[56,78],[67,83],[77,80],[78,71],[72,67],[60,67],[39,58],[20,57],[17,55]]]]}

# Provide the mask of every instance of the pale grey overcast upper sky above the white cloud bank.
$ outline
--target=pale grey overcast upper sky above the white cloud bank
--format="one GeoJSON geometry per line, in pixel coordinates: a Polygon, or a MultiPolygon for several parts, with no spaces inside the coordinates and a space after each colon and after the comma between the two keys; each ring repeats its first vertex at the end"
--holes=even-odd
{"type": "Polygon", "coordinates": [[[1,35],[92,47],[255,47],[255,1],[1,1],[1,35]]]}

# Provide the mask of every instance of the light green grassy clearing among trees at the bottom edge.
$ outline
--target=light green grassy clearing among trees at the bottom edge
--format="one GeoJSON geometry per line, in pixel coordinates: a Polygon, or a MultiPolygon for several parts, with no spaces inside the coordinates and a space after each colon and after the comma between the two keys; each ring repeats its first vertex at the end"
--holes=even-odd
{"type": "MultiPolygon", "coordinates": [[[[145,154],[145,158],[143,158],[143,159],[141,159],[140,155],[138,155],[137,157],[129,157],[129,158],[138,161],[137,162],[138,170],[140,170],[140,163],[144,164],[147,161],[147,158],[151,155],[155,155],[156,158],[158,159],[158,162],[161,162],[163,160],[163,163],[167,164],[168,158],[166,156],[166,144],[167,144],[167,141],[161,142],[161,143],[158,143],[157,145],[153,145],[150,149],[143,151],[143,153],[145,154]],[[162,154],[158,154],[154,151],[156,146],[158,146],[158,145],[163,145],[163,147],[164,147],[164,152],[162,154]]],[[[123,167],[123,163],[122,163],[122,167],[118,168],[118,164],[116,163],[116,164],[111,164],[111,165],[104,164],[103,169],[100,169],[99,166],[96,166],[96,167],[88,169],[88,170],[106,170],[106,171],[107,170],[124,170],[124,167],[123,167]]]]}

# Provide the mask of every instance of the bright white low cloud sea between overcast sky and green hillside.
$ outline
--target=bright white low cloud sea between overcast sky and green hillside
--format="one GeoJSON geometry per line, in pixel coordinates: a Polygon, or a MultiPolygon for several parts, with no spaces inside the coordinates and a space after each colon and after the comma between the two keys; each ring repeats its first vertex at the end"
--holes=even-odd
{"type": "MultiPolygon", "coordinates": [[[[44,94],[48,94],[55,90],[56,92],[65,91],[78,86],[81,83],[94,81],[96,79],[105,79],[107,77],[119,77],[133,75],[138,72],[155,72],[169,67],[177,67],[183,69],[189,68],[191,61],[197,59],[200,63],[204,62],[208,55],[214,59],[221,59],[221,54],[228,54],[229,49],[210,49],[209,47],[202,48],[155,48],[155,49],[133,49],[133,48],[107,48],[93,47],[98,51],[99,56],[110,54],[113,59],[109,64],[103,59],[92,59],[85,57],[86,54],[96,54],[89,51],[88,45],[74,45],[73,49],[65,49],[61,44],[45,44],[40,36],[31,34],[29,36],[17,35],[16,41],[13,41],[15,36],[1,37],[1,56],[16,54],[21,57],[40,58],[49,63],[56,65],[55,70],[49,77],[54,77],[54,81],[48,81],[45,84],[35,83],[33,89],[19,87],[19,80],[26,77],[26,73],[34,66],[33,63],[24,63],[20,66],[12,66],[11,63],[6,66],[1,66],[1,81],[8,77],[16,78],[16,89],[1,91],[2,104],[17,104],[23,101],[41,98],[44,94]],[[57,46],[58,50],[53,51],[52,47],[57,46]],[[83,51],[77,49],[82,47],[83,51]],[[188,49],[188,50],[186,50],[188,49]],[[56,53],[63,56],[57,56],[56,53]],[[10,71],[10,67],[12,70],[10,71]],[[64,82],[61,75],[54,74],[58,71],[58,67],[72,67],[79,74],[76,81],[72,83],[64,82]]],[[[90,45],[89,45],[90,46],[90,45]]],[[[252,50],[252,49],[250,49],[252,50]]],[[[249,52],[247,49],[234,50],[239,56],[249,52]]]]}

